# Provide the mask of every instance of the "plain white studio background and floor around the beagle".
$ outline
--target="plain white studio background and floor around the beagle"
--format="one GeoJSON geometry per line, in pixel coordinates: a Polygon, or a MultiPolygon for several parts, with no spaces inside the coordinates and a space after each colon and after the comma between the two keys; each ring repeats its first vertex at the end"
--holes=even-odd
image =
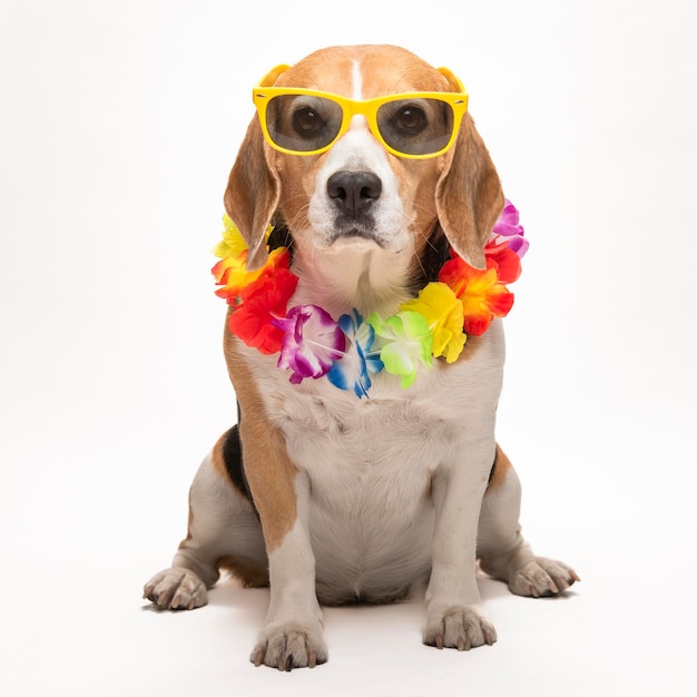
{"type": "Polygon", "coordinates": [[[695,694],[694,7],[1,0],[0,693],[695,694]],[[499,642],[467,655],[419,601],[330,609],[330,662],[282,675],[247,662],[267,591],[140,588],[235,418],[208,269],[251,88],[360,42],[462,78],[521,210],[498,435],[583,581],[482,579],[499,642]]]}

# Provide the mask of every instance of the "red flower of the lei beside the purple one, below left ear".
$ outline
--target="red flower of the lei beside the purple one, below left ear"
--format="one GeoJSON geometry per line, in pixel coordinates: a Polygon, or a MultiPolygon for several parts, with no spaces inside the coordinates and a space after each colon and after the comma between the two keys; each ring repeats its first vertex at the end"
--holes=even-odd
{"type": "Polygon", "coordinates": [[[229,317],[229,331],[266,355],[281,351],[284,332],[272,320],[285,316],[296,285],[297,276],[287,268],[265,268],[239,292],[239,304],[229,317]]]}

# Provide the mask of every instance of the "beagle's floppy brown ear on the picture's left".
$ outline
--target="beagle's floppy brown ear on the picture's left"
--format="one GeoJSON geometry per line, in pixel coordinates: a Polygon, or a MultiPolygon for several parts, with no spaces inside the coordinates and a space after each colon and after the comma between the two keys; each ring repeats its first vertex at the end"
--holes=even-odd
{"type": "Polygon", "coordinates": [[[265,233],[281,196],[281,180],[269,159],[258,118],[254,117],[239,146],[224,196],[225,210],[249,247],[251,271],[266,261],[265,233]]]}

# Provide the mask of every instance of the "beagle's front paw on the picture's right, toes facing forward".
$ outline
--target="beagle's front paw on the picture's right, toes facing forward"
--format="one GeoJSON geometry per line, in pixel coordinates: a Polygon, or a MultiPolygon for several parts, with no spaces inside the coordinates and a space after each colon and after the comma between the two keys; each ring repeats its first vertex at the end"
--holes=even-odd
{"type": "Polygon", "coordinates": [[[429,646],[468,651],[475,646],[491,646],[497,630],[484,613],[473,606],[455,606],[442,612],[429,612],[423,642],[429,646]]]}

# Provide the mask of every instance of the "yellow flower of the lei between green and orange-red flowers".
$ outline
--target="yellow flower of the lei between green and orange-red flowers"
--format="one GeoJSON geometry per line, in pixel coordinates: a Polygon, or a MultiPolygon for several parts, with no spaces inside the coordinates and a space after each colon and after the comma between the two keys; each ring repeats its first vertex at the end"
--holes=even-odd
{"type": "Polygon", "coordinates": [[[423,315],[433,335],[433,355],[445,356],[448,363],[454,363],[462,353],[467,335],[462,327],[464,314],[462,303],[444,283],[429,283],[419,297],[408,301],[400,310],[410,310],[423,315]]]}

